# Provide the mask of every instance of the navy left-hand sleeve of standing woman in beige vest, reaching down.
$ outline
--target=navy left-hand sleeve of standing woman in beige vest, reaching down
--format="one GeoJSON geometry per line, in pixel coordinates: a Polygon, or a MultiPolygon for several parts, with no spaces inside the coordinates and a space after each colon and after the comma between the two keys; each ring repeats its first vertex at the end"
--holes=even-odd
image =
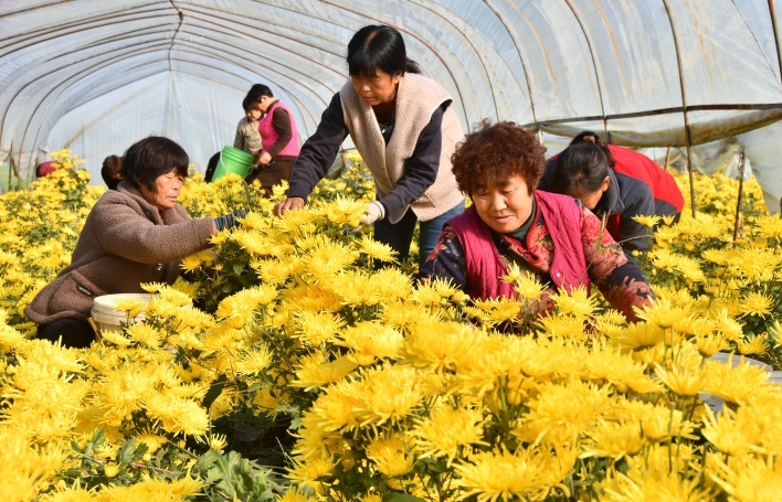
{"type": "Polygon", "coordinates": [[[289,197],[307,200],[315,185],[326,175],[347,137],[348,126],[345,125],[342,102],[337,93],[320,117],[315,133],[305,141],[296,159],[290,175],[289,197]]]}

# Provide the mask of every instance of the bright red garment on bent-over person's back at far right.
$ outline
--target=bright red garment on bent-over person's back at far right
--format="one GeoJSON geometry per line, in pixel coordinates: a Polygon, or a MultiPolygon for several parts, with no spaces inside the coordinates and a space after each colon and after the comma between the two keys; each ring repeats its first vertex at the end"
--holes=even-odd
{"type": "Polygon", "coordinates": [[[674,177],[643,153],[630,148],[609,145],[609,150],[616,161],[615,172],[621,172],[643,181],[652,189],[656,201],[665,201],[679,213],[684,209],[684,196],[674,177]]]}

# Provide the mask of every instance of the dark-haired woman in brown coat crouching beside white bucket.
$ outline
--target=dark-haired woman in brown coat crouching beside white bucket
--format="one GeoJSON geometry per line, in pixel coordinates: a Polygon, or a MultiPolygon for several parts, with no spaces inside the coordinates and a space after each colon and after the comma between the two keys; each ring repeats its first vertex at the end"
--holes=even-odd
{"type": "Polygon", "coordinates": [[[89,345],[95,297],[144,292],[144,282],[172,284],[182,258],[209,248],[214,234],[245,216],[240,210],[191,220],[177,203],[189,163],[184,150],[162,137],[145,138],[125,152],[123,181],[89,212],[71,265],[24,309],[39,324],[39,338],[89,345]]]}

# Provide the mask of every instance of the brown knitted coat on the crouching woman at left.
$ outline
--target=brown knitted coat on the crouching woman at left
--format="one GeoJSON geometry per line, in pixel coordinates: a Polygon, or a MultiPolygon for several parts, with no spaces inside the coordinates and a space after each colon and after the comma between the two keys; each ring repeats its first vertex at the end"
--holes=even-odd
{"type": "Polygon", "coordinates": [[[161,214],[137,189],[121,182],[95,203],[71,265],[35,296],[24,313],[39,324],[86,320],[95,297],[144,292],[142,282],[173,284],[179,261],[211,246],[212,224],[211,217],[190,220],[179,204],[161,214]]]}

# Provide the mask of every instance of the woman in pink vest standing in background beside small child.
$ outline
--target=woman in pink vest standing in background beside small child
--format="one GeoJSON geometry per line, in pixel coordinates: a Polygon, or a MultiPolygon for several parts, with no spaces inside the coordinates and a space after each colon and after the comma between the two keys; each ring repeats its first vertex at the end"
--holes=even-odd
{"type": "Polygon", "coordinates": [[[245,99],[263,115],[258,120],[263,145],[258,167],[247,174],[245,181],[252,183],[257,180],[266,196],[270,196],[272,186],[283,180],[290,180],[298,158],[296,120],[288,107],[275,99],[272,89],[263,84],[253,85],[245,99]]]}

